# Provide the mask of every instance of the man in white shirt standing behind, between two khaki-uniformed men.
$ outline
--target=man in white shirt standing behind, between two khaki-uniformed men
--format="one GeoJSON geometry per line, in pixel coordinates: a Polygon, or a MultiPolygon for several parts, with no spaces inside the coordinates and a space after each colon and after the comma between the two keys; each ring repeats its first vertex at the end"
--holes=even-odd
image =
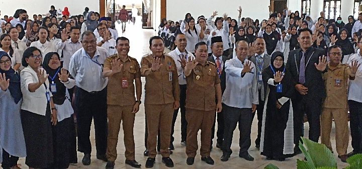
{"type": "MultiPolygon", "coordinates": [[[[184,74],[184,68],[186,63],[191,59],[194,60],[195,56],[191,53],[191,51],[186,50],[187,46],[187,39],[185,34],[179,33],[175,37],[175,45],[177,46],[175,50],[168,53],[169,56],[172,56],[178,74],[178,84],[180,87],[180,111],[181,111],[181,144],[186,145],[186,137],[187,137],[187,121],[186,121],[186,108],[185,108],[185,101],[186,101],[186,76],[184,74]]],[[[170,149],[174,149],[173,147],[173,131],[174,131],[174,124],[176,122],[178,114],[178,109],[173,111],[173,119],[172,119],[172,126],[171,126],[171,142],[170,142],[170,149]]]]}

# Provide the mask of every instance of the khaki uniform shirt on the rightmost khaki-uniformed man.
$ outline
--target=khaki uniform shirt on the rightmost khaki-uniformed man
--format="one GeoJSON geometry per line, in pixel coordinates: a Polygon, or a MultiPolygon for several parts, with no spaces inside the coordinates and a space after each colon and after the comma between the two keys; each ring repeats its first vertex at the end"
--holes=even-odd
{"type": "Polygon", "coordinates": [[[328,72],[323,74],[327,97],[324,108],[347,108],[348,78],[351,74],[346,64],[339,63],[337,67],[328,65],[328,72]]]}

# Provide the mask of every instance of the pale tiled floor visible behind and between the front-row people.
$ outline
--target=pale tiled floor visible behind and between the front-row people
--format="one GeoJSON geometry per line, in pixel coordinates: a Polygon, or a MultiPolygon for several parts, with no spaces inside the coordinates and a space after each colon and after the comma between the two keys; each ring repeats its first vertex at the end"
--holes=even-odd
{"type": "MultiPolygon", "coordinates": [[[[121,30],[120,26],[116,27],[118,30],[121,30]]],[[[148,40],[151,36],[156,35],[156,32],[154,32],[154,30],[144,30],[144,29],[140,29],[140,28],[136,28],[136,26],[133,25],[127,25],[127,30],[124,34],[122,34],[122,32],[119,32],[119,36],[125,36],[127,38],[130,39],[130,44],[131,44],[131,49],[129,52],[129,55],[131,57],[136,58],[139,62],[141,61],[141,58],[143,55],[149,53],[149,44],[148,44],[148,40]]],[[[168,53],[168,51],[167,51],[168,53]]],[[[142,83],[144,83],[144,78],[142,79],[142,83]]],[[[144,94],[144,93],[143,93],[144,94]]],[[[142,96],[142,100],[143,100],[143,96],[142,96]]],[[[136,114],[136,120],[135,120],[135,126],[134,126],[134,138],[135,138],[135,151],[136,151],[136,160],[138,162],[140,162],[142,164],[142,168],[145,168],[145,161],[147,159],[147,157],[143,156],[143,151],[145,150],[144,147],[144,131],[145,131],[145,117],[144,117],[144,105],[141,104],[140,107],[140,111],[136,114]]],[[[121,127],[122,128],[122,127],[121,127]]],[[[215,164],[214,165],[209,165],[206,164],[204,161],[201,161],[201,157],[198,154],[195,158],[195,163],[194,165],[187,165],[186,164],[186,153],[185,153],[185,146],[180,144],[180,115],[178,115],[177,117],[177,121],[175,124],[175,140],[174,140],[174,146],[175,146],[175,150],[173,151],[173,154],[170,156],[173,159],[174,162],[174,167],[173,168],[203,168],[203,169],[207,169],[207,168],[257,168],[257,169],[261,169],[264,168],[265,165],[269,164],[269,163],[273,163],[277,166],[279,166],[281,169],[290,169],[290,168],[297,168],[296,167],[296,163],[297,163],[297,159],[303,159],[304,155],[300,154],[297,155],[293,158],[288,158],[283,162],[280,161],[274,161],[274,160],[265,160],[265,157],[260,155],[260,152],[255,148],[255,144],[254,144],[254,140],[256,138],[257,135],[257,120],[256,120],[256,116],[255,119],[253,121],[252,124],[252,129],[251,129],[251,147],[249,149],[249,153],[255,158],[254,161],[246,161],[243,158],[238,157],[238,149],[239,149],[239,131],[236,129],[234,131],[234,138],[233,138],[233,144],[231,149],[234,151],[234,153],[231,155],[231,158],[229,159],[229,161],[227,162],[222,162],[220,160],[220,157],[222,155],[222,151],[218,148],[216,148],[215,142],[214,141],[214,149],[211,152],[211,157],[215,160],[215,164]]],[[[305,135],[308,135],[308,123],[305,123],[305,135]]],[[[332,138],[332,146],[335,147],[335,130],[334,130],[334,125],[333,125],[333,129],[332,129],[332,134],[331,134],[331,138],[332,138]]],[[[216,139],[216,138],[215,138],[216,139]]],[[[350,138],[349,138],[350,140],[350,138]]],[[[94,138],[94,128],[92,127],[92,134],[91,134],[91,141],[92,141],[92,145],[93,145],[93,152],[92,152],[92,163],[91,165],[88,166],[84,166],[81,163],[81,158],[83,156],[82,153],[78,152],[78,163],[71,165],[69,168],[70,169],[75,169],[75,168],[79,168],[79,169],[100,169],[100,168],[104,168],[106,165],[106,162],[103,162],[99,159],[96,159],[96,148],[95,148],[95,138],[94,138]]],[[[199,143],[200,143],[200,133],[199,133],[199,143]]],[[[200,145],[199,145],[200,146],[200,145]]],[[[118,158],[116,160],[116,165],[115,168],[132,168],[129,165],[125,164],[125,157],[124,157],[124,142],[123,142],[123,130],[121,129],[120,134],[119,134],[119,141],[118,141],[118,147],[117,147],[117,151],[118,151],[118,158]]],[[[348,152],[351,151],[351,146],[350,146],[350,141],[349,141],[349,147],[348,147],[348,152]]],[[[338,164],[338,168],[343,168],[346,166],[346,163],[341,162],[338,158],[337,158],[337,154],[335,154],[336,160],[337,160],[337,164],[338,164]]],[[[19,163],[21,163],[23,165],[23,168],[27,168],[25,167],[26,165],[24,164],[24,158],[21,158],[19,160],[19,163]]],[[[162,162],[161,162],[161,155],[157,155],[156,157],[156,163],[155,166],[153,168],[167,168],[162,162]]]]}

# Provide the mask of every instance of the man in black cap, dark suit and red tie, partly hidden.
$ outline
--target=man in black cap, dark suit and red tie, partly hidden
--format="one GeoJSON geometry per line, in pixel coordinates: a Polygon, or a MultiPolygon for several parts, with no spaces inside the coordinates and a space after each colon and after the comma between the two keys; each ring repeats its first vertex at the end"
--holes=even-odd
{"type": "MultiPolygon", "coordinates": [[[[220,80],[221,80],[221,94],[224,94],[225,88],[226,88],[226,75],[225,75],[225,62],[226,60],[230,59],[227,56],[223,56],[223,52],[224,52],[224,46],[223,46],[223,42],[222,42],[222,38],[220,36],[217,37],[212,37],[211,38],[211,50],[212,50],[212,55],[208,57],[208,61],[215,63],[216,66],[216,70],[218,71],[220,80]]],[[[221,111],[220,113],[217,113],[217,122],[218,122],[218,129],[216,132],[217,135],[217,143],[216,143],[216,147],[221,149],[223,140],[224,140],[224,117],[223,117],[223,111],[221,111]]],[[[216,116],[216,112],[215,112],[215,116],[216,116]]],[[[214,125],[212,127],[212,131],[211,131],[211,147],[212,148],[212,143],[213,143],[213,139],[215,136],[215,122],[214,121],[214,125]]]]}

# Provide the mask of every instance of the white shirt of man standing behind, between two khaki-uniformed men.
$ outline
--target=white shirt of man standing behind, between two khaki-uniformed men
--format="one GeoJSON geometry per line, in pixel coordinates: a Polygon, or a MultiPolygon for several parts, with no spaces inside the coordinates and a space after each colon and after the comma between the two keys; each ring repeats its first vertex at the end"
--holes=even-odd
{"type": "Polygon", "coordinates": [[[186,76],[184,74],[184,69],[182,68],[181,64],[178,62],[181,61],[180,58],[182,58],[182,55],[185,56],[186,61],[189,61],[189,59],[195,59],[195,56],[188,52],[187,50],[185,52],[180,52],[178,48],[168,53],[169,56],[172,56],[173,60],[175,61],[176,68],[177,68],[177,74],[178,74],[178,84],[185,85],[186,84],[186,76]]]}

